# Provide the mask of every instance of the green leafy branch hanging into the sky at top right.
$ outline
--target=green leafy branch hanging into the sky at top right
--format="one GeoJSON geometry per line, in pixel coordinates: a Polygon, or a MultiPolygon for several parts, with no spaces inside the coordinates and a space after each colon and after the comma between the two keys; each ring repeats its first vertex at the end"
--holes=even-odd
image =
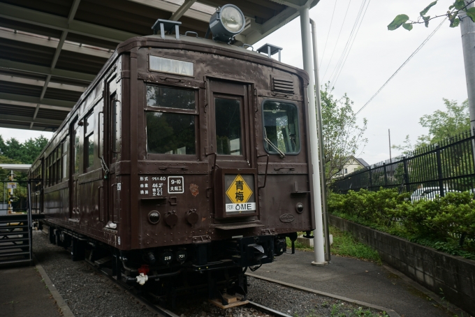
{"type": "Polygon", "coordinates": [[[437,4],[436,0],[426,6],[424,10],[419,13],[419,17],[416,21],[409,20],[409,16],[405,14],[397,15],[394,18],[393,22],[390,22],[390,24],[388,25],[388,30],[394,31],[395,29],[398,29],[402,26],[404,29],[407,29],[407,31],[411,31],[411,29],[413,28],[413,24],[425,24],[425,27],[429,27],[429,21],[437,19],[438,17],[447,17],[448,20],[451,22],[450,27],[458,27],[460,24],[459,15],[461,12],[465,12],[467,17],[469,17],[472,22],[475,22],[475,8],[467,8],[470,3],[474,2],[475,0],[469,0],[467,1],[467,3],[465,2],[465,0],[455,0],[455,2],[448,7],[447,13],[431,17],[430,15],[427,15],[427,13],[429,12],[430,8],[437,4]]]}

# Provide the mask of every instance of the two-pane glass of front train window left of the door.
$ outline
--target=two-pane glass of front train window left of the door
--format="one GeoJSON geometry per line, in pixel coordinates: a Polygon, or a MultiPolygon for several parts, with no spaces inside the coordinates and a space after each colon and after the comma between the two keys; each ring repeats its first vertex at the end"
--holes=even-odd
{"type": "Polygon", "coordinates": [[[147,85],[148,154],[196,155],[196,92],[147,85]]]}

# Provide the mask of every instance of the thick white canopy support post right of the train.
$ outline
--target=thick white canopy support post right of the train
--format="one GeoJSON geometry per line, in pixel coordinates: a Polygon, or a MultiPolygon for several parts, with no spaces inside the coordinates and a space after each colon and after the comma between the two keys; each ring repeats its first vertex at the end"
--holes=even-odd
{"type": "MultiPolygon", "coordinates": [[[[302,34],[302,55],[303,55],[303,69],[311,74],[313,71],[312,65],[312,45],[310,39],[310,24],[309,24],[309,7],[300,8],[300,30],[302,34]]],[[[309,112],[309,137],[310,137],[310,152],[312,153],[312,182],[314,185],[314,209],[315,209],[315,230],[314,230],[314,255],[315,260],[312,265],[326,265],[323,251],[323,221],[321,211],[321,186],[320,177],[316,170],[319,168],[319,138],[316,134],[316,113],[315,113],[315,93],[314,93],[314,78],[309,76],[309,86],[307,87],[308,94],[308,112],[309,112]]]]}

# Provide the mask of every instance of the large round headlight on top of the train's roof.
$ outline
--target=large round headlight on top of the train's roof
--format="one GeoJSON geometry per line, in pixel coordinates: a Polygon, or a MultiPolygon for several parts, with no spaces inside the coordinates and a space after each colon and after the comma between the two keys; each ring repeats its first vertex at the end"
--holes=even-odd
{"type": "Polygon", "coordinates": [[[233,4],[226,4],[213,13],[210,19],[210,30],[213,40],[228,43],[244,29],[244,14],[233,4]]]}

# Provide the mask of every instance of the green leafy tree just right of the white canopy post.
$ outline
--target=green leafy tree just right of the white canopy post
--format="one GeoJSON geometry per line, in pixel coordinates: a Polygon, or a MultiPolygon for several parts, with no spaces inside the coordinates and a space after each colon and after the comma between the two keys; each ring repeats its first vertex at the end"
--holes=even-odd
{"type": "Polygon", "coordinates": [[[321,90],[323,147],[328,182],[331,182],[348,159],[356,155],[358,149],[367,143],[367,138],[363,136],[367,119],[363,119],[363,126],[358,126],[351,108],[353,101],[346,94],[341,98],[333,96],[333,89],[328,83],[325,84],[325,89],[321,90]]]}

